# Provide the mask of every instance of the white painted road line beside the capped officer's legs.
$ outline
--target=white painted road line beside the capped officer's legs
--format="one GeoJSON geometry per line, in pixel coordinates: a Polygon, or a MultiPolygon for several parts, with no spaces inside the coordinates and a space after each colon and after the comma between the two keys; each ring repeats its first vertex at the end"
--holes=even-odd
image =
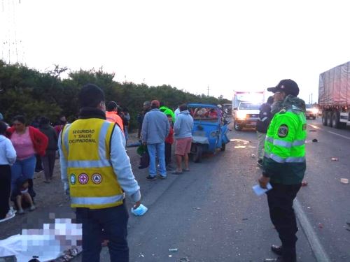
{"type": "Polygon", "coordinates": [[[294,209],[295,209],[295,214],[297,215],[297,220],[299,220],[299,224],[302,227],[302,230],[304,231],[307,237],[307,240],[309,241],[312,252],[314,252],[316,261],[330,262],[330,258],[328,257],[328,254],[325,253],[325,249],[321,245],[321,242],[318,239],[314,231],[314,228],[311,226],[309,220],[307,219],[307,216],[302,210],[302,206],[300,205],[297,198],[295,198],[295,201],[294,201],[294,209]]]}

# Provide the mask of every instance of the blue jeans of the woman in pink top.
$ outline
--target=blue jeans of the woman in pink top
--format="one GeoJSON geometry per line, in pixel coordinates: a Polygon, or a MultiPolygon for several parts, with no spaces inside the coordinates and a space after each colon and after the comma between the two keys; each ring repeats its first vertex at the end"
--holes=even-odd
{"type": "Polygon", "coordinates": [[[13,166],[11,166],[11,186],[14,189],[16,180],[18,180],[18,177],[25,177],[30,180],[33,179],[34,176],[34,169],[36,165],[36,156],[31,156],[27,159],[23,160],[16,160],[13,166]]]}

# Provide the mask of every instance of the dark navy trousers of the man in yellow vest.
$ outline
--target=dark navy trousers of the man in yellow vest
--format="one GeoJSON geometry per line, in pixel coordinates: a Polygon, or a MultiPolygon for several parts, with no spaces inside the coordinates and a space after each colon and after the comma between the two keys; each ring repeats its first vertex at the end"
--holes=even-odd
{"type": "Polygon", "coordinates": [[[102,229],[104,240],[109,240],[111,262],[128,262],[127,220],[129,214],[125,203],[114,208],[76,208],[76,219],[83,224],[82,262],[99,262],[102,229]]]}

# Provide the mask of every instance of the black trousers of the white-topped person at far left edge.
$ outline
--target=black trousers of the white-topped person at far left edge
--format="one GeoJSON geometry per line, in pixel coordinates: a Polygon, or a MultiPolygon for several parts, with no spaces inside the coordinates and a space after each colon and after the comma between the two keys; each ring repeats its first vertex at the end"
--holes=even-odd
{"type": "Polygon", "coordinates": [[[10,165],[0,165],[0,219],[6,217],[10,206],[8,201],[11,194],[11,168],[10,165]]]}

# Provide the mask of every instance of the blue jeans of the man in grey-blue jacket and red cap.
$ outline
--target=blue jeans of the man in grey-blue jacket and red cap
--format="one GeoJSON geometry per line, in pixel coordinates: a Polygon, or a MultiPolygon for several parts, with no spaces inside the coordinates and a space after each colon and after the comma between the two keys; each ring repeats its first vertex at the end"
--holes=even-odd
{"type": "Polygon", "coordinates": [[[155,158],[158,157],[159,173],[162,177],[167,176],[165,169],[165,143],[147,145],[148,154],[150,155],[150,167],[148,168],[151,177],[157,175],[157,166],[155,158]]]}

